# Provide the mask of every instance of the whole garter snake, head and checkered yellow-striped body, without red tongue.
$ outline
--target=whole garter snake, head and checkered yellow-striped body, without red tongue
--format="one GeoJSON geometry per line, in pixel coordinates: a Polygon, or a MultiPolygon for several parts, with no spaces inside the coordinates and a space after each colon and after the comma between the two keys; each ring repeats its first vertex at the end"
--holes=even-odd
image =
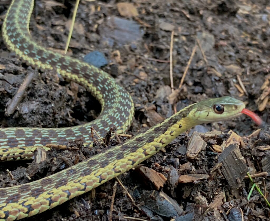
{"type": "MultiPolygon", "coordinates": [[[[90,91],[102,105],[96,120],[69,128],[0,128],[2,160],[31,158],[38,146],[67,144],[82,138],[92,143],[90,128],[101,137],[110,127],[126,132],[134,115],[133,101],[109,74],[80,60],[49,51],[29,33],[34,0],[13,0],[2,26],[4,41],[18,57],[38,69],[54,69],[90,91]]],[[[228,120],[241,114],[242,101],[213,98],[192,104],[160,124],[68,169],[38,181],[0,189],[0,220],[18,220],[44,212],[96,188],[140,164],[194,125],[228,120]]]]}

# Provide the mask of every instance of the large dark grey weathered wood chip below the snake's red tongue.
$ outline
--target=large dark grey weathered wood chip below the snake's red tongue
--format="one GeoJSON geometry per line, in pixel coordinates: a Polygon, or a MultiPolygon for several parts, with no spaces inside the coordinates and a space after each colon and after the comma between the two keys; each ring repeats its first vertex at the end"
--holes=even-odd
{"type": "Polygon", "coordinates": [[[218,158],[218,163],[222,163],[222,174],[231,188],[241,187],[242,180],[247,174],[247,166],[240,152],[239,144],[231,144],[225,148],[218,158]]]}

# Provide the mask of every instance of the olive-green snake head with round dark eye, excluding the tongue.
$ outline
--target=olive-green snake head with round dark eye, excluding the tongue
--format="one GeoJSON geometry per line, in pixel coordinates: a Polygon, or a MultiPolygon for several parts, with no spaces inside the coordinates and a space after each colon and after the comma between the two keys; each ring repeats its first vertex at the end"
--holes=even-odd
{"type": "Polygon", "coordinates": [[[194,104],[194,118],[200,123],[230,120],[240,116],[245,104],[235,98],[225,96],[210,98],[194,104]]]}

